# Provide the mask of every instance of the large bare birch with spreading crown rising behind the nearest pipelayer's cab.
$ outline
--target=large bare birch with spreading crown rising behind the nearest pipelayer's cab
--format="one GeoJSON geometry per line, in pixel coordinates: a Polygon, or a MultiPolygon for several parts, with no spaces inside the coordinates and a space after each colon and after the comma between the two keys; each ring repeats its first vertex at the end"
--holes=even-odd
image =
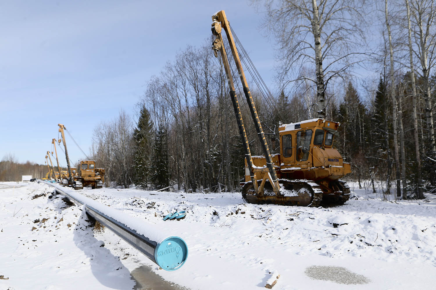
{"type": "Polygon", "coordinates": [[[283,86],[310,81],[317,95],[314,113],[324,118],[327,84],[345,77],[356,63],[351,57],[359,54],[351,48],[363,45],[364,1],[280,0],[276,5],[266,0],[265,6],[266,23],[279,48],[279,80],[283,86]],[[301,68],[308,62],[314,64],[315,73],[302,73],[301,68]]]}

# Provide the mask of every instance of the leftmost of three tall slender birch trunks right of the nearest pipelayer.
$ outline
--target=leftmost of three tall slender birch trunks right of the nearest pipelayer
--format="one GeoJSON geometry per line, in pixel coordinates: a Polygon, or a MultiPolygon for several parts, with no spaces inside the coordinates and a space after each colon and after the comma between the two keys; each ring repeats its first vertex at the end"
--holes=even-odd
{"type": "Polygon", "coordinates": [[[397,121],[397,99],[395,92],[395,83],[394,83],[394,52],[392,49],[392,35],[391,35],[391,26],[388,21],[388,0],[385,0],[385,20],[386,20],[386,28],[388,30],[388,39],[389,39],[389,57],[391,60],[390,67],[390,80],[391,80],[391,97],[392,97],[392,123],[394,125],[394,150],[395,150],[395,179],[396,179],[396,187],[397,187],[397,197],[401,197],[401,185],[400,185],[400,157],[399,157],[399,149],[398,149],[398,121],[397,121]]]}

